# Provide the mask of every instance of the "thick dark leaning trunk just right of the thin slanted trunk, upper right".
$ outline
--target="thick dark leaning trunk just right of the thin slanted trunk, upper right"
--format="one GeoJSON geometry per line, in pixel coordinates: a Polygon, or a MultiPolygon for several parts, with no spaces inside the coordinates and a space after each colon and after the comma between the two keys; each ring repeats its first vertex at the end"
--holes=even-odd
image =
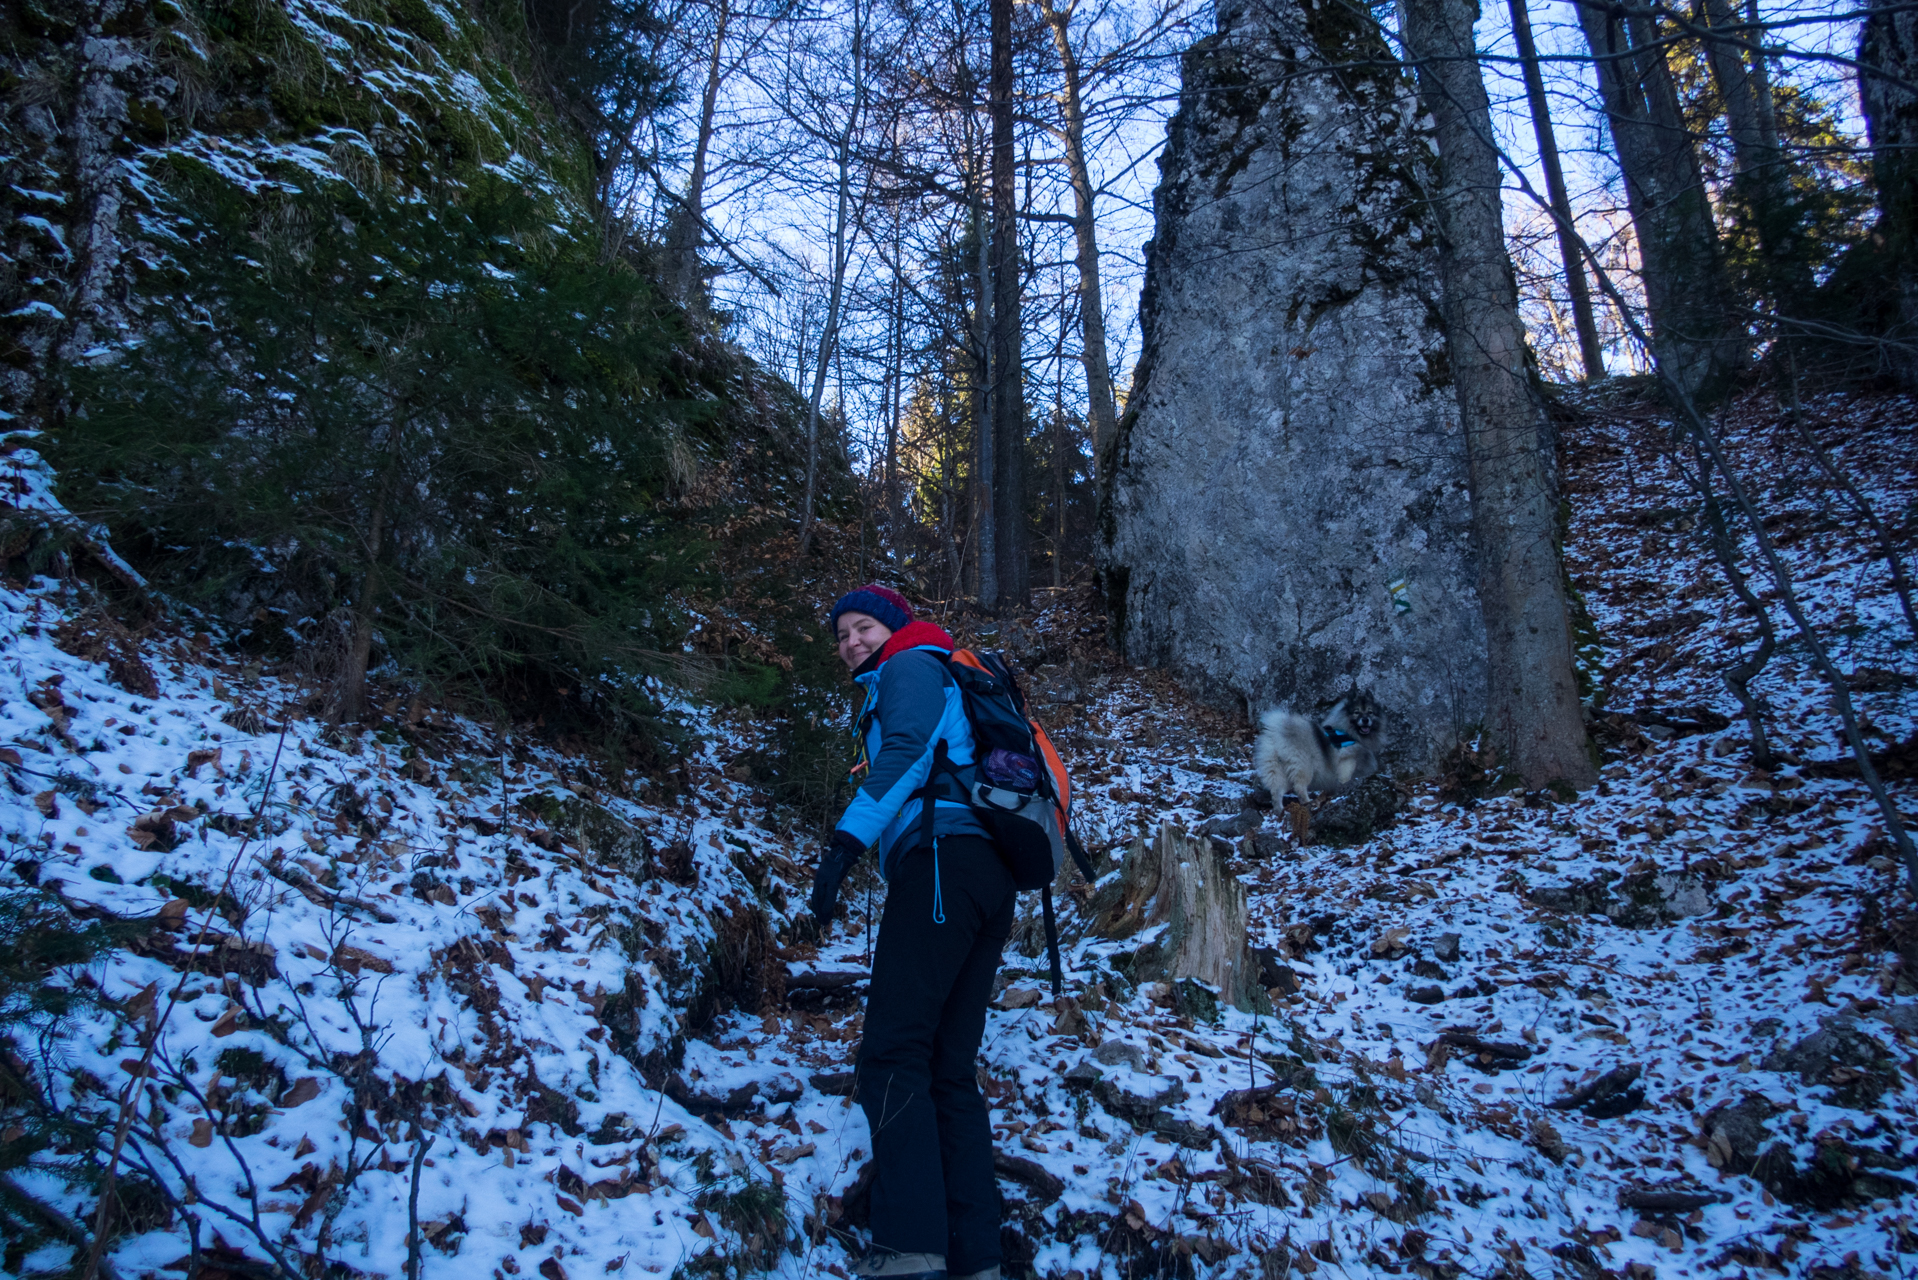
{"type": "Polygon", "coordinates": [[[1646,17],[1575,0],[1625,173],[1659,363],[1694,399],[1722,395],[1745,363],[1711,200],[1678,109],[1665,50],[1646,17]]]}

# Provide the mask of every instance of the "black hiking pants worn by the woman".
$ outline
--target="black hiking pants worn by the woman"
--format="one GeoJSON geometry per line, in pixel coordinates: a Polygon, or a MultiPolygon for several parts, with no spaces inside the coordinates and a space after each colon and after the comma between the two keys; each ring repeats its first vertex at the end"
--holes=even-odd
{"type": "Polygon", "coordinates": [[[980,837],[940,837],[936,867],[930,848],[915,848],[886,885],[857,1094],[873,1126],[873,1244],[942,1253],[959,1276],[999,1263],[976,1065],[1015,889],[980,837]]]}

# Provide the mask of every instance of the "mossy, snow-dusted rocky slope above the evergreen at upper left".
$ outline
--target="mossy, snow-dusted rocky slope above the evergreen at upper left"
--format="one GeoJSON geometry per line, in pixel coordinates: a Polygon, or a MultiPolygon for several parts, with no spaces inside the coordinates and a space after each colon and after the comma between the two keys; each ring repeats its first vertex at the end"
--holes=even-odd
{"type": "Polygon", "coordinates": [[[489,165],[591,228],[585,146],[526,63],[524,33],[433,0],[0,10],[0,430],[48,426],[48,374],[138,336],[186,177],[443,186],[489,165]]]}

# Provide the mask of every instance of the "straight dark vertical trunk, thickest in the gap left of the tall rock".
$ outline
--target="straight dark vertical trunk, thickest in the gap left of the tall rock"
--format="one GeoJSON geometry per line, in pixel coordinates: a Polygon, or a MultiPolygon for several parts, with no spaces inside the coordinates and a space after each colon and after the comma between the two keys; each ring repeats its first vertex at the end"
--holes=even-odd
{"type": "Polygon", "coordinates": [[[1026,528],[1026,391],[1020,355],[1018,205],[1013,155],[1013,0],[992,10],[992,436],[994,558],[992,610],[1024,608],[1032,597],[1032,535],[1026,528]]]}

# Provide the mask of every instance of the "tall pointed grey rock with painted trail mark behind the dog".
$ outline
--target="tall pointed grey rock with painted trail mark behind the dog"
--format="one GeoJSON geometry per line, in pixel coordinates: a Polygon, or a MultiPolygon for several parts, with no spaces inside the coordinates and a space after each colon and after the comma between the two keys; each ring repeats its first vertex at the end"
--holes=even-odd
{"type": "Polygon", "coordinates": [[[1337,0],[1222,4],[1187,54],[1103,578],[1132,662],[1251,714],[1364,685],[1421,766],[1481,714],[1485,635],[1431,152],[1366,59],[1337,0]]]}

